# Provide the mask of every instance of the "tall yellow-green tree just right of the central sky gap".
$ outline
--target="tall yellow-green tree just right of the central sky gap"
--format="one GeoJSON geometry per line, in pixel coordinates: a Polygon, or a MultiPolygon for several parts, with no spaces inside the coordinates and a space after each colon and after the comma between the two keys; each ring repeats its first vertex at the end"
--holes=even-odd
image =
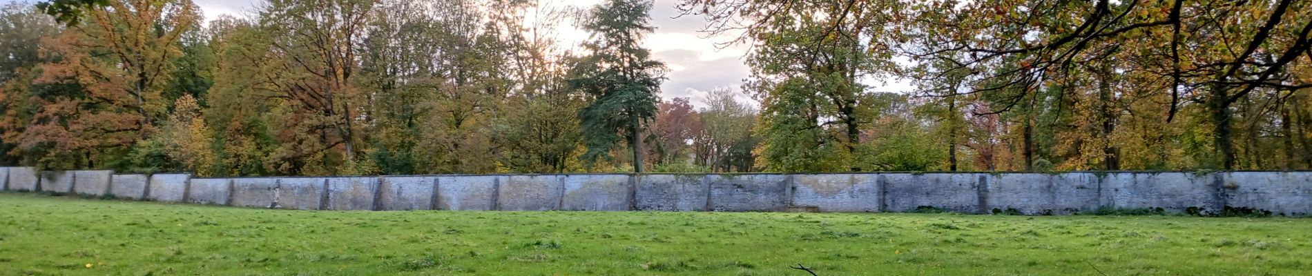
{"type": "Polygon", "coordinates": [[[729,43],[753,44],[748,86],[762,102],[760,158],[770,170],[863,170],[869,167],[853,162],[862,147],[861,132],[872,122],[863,102],[871,95],[862,80],[878,78],[892,68],[886,46],[870,42],[886,35],[882,25],[891,20],[887,10],[901,5],[685,0],[678,8],[706,17],[710,34],[731,35],[729,43]],[[790,136],[798,132],[811,137],[790,136]]]}

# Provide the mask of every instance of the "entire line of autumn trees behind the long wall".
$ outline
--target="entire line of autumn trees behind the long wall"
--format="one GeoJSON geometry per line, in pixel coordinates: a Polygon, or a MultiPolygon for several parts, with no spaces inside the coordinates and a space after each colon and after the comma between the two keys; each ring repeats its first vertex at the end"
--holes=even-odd
{"type": "Polygon", "coordinates": [[[750,46],[744,85],[701,109],[659,97],[643,0],[268,0],[218,18],[189,0],[13,3],[0,165],[1309,169],[1309,3],[681,0],[706,34],[750,46]],[[563,22],[590,37],[564,44],[563,22]],[[879,92],[890,80],[913,90],[879,92]]]}

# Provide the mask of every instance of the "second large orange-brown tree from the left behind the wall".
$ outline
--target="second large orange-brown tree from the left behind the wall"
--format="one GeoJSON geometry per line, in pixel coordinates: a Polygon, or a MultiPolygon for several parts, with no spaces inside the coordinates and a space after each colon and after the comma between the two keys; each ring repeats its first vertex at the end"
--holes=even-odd
{"type": "Polygon", "coordinates": [[[365,24],[375,0],[270,0],[260,13],[260,31],[266,52],[249,56],[272,85],[266,97],[295,111],[285,120],[289,140],[281,152],[279,169],[299,173],[306,165],[323,171],[354,170],[356,129],[362,106],[350,84],[357,73],[358,50],[365,24]],[[337,145],[340,150],[325,153],[337,145]],[[340,154],[342,162],[325,162],[340,154]],[[306,162],[318,156],[318,161],[306,162]]]}

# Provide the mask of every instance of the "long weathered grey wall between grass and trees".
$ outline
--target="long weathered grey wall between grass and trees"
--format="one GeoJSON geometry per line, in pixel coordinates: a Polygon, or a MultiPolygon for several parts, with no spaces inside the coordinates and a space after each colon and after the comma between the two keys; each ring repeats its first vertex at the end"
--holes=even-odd
{"type": "Polygon", "coordinates": [[[3,188],[285,209],[1312,215],[1312,171],[564,174],[193,178],[0,167],[3,188]]]}

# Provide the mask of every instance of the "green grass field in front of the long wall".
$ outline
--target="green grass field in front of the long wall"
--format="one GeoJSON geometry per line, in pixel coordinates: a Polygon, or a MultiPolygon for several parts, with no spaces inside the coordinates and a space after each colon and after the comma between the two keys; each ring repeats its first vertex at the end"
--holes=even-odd
{"type": "Polygon", "coordinates": [[[318,212],[0,194],[0,275],[1307,275],[1309,218],[318,212]]]}

